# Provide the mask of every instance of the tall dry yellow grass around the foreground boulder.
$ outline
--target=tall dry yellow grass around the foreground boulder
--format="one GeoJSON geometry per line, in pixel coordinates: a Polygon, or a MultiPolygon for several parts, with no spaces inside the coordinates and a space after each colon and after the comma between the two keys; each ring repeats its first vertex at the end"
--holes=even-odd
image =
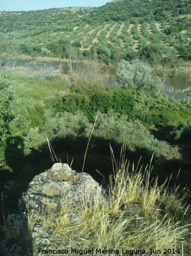
{"type": "MultiPolygon", "coordinates": [[[[160,250],[161,254],[166,248],[180,249],[181,256],[189,256],[190,219],[188,207],[181,205],[188,194],[180,197],[176,188],[170,191],[166,187],[168,184],[158,186],[157,180],[150,182],[151,163],[144,172],[141,167],[129,170],[125,144],[119,163],[115,161],[112,149],[111,152],[113,174],[105,189],[105,201],[97,200],[92,205],[90,198],[88,201],[84,196],[86,199],[76,207],[66,207],[63,202],[57,211],[29,211],[29,230],[32,231],[37,223],[51,229],[52,249],[65,248],[69,254],[71,248],[102,248],[119,250],[118,255],[123,255],[122,249],[141,249],[149,255],[151,248],[160,250]],[[126,212],[124,206],[128,205],[138,205],[139,210],[126,212]],[[71,214],[76,214],[81,221],[71,221],[71,214]]],[[[33,249],[39,255],[38,248],[33,249]]],[[[173,251],[166,255],[173,256],[173,251]]]]}

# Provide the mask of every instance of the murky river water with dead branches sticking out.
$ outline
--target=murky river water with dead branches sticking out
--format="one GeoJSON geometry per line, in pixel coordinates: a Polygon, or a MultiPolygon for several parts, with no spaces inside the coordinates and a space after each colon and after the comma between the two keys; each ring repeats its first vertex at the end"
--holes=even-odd
{"type": "MultiPolygon", "coordinates": [[[[3,61],[5,66],[8,64],[13,64],[13,59],[6,59],[3,61]]],[[[47,74],[54,73],[58,66],[60,65],[59,61],[38,61],[36,63],[31,63],[30,60],[22,60],[19,59],[16,62],[16,66],[23,67],[22,72],[25,74],[31,75],[34,73],[39,73],[41,76],[45,76],[47,74]]],[[[72,68],[75,71],[77,68],[79,70],[86,70],[87,65],[83,63],[72,63],[72,68]]],[[[3,67],[5,70],[5,67],[3,67]]],[[[65,61],[62,62],[62,70],[64,74],[67,74],[70,70],[68,63],[65,61]]],[[[15,70],[16,71],[16,70],[15,70]]],[[[9,71],[9,72],[15,72],[9,71]]],[[[110,77],[116,74],[116,69],[112,66],[105,66],[105,71],[108,72],[110,77]]],[[[174,97],[175,99],[180,99],[182,97],[188,97],[186,93],[177,92],[177,90],[183,90],[191,86],[190,82],[186,82],[186,78],[188,78],[188,73],[179,73],[178,76],[175,76],[173,79],[166,79],[164,82],[163,93],[168,94],[170,97],[174,97]]],[[[112,79],[111,79],[112,81],[112,79]]],[[[108,83],[108,86],[112,85],[112,82],[108,83]]],[[[189,91],[191,92],[191,91],[189,91]]]]}

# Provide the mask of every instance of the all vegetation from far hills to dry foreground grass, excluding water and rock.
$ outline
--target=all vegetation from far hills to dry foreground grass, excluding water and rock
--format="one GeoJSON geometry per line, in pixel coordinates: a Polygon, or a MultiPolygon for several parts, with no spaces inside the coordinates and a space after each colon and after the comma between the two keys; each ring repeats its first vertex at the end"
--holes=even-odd
{"type": "MultiPolygon", "coordinates": [[[[165,79],[189,66],[190,41],[188,0],[116,0],[99,8],[0,12],[0,189],[7,181],[21,182],[1,198],[0,216],[17,209],[18,198],[35,175],[60,161],[98,182],[110,181],[110,203],[78,212],[83,246],[128,241],[132,248],[154,248],[157,241],[161,248],[179,248],[181,237],[184,255],[189,255],[188,212],[181,203],[190,200],[191,94],[175,100],[159,91],[165,79]],[[58,57],[57,74],[12,72],[23,54],[35,61],[58,57]],[[11,73],[4,70],[7,58],[13,59],[11,73]],[[86,68],[79,68],[80,62],[86,68]],[[116,70],[110,87],[105,64],[116,70]],[[167,183],[173,192],[164,188],[167,183]],[[142,195],[138,187],[146,188],[142,195]],[[131,234],[119,215],[123,201],[141,207],[141,218],[125,218],[134,227],[131,234]],[[97,216],[103,232],[95,229],[97,216]]],[[[58,212],[57,223],[52,213],[44,218],[33,212],[29,228],[42,220],[42,226],[54,231],[55,241],[62,238],[63,247],[68,243],[63,232],[70,230],[74,246],[79,234],[66,221],[69,211],[63,208],[62,218],[58,212]]],[[[10,240],[19,238],[6,228],[10,240]]]]}

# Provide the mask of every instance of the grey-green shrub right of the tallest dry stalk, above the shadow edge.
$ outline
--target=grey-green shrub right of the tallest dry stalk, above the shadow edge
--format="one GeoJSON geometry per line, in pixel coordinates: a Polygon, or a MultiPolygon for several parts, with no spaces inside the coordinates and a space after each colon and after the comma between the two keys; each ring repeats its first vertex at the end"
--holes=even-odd
{"type": "Polygon", "coordinates": [[[128,121],[128,116],[121,116],[113,113],[113,111],[109,111],[108,114],[99,114],[94,134],[121,144],[126,141],[128,150],[145,149],[157,157],[168,148],[166,142],[154,139],[154,136],[150,134],[141,121],[128,121]]]}

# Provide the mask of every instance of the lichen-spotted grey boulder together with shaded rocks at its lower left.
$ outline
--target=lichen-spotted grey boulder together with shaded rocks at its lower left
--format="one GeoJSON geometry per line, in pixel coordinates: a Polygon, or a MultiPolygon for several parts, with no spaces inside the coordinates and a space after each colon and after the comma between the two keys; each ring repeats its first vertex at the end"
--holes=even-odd
{"type": "MultiPolygon", "coordinates": [[[[96,200],[105,200],[102,188],[91,177],[84,172],[72,170],[68,164],[57,163],[49,170],[35,176],[29,183],[26,192],[23,192],[19,199],[19,210],[23,213],[14,213],[8,216],[6,225],[2,229],[4,237],[16,234],[15,239],[3,239],[0,242],[0,254],[9,256],[36,255],[32,253],[34,248],[51,247],[51,230],[46,230],[43,226],[36,223],[31,233],[30,239],[17,239],[20,234],[28,229],[27,211],[43,213],[47,210],[59,211],[65,204],[66,207],[87,207],[93,205],[96,200]],[[11,233],[10,233],[11,231],[11,233]],[[25,241],[26,240],[26,241],[25,241]]],[[[78,225],[82,220],[77,212],[68,212],[67,220],[78,225]]],[[[26,238],[26,237],[25,237],[26,238]]]]}

